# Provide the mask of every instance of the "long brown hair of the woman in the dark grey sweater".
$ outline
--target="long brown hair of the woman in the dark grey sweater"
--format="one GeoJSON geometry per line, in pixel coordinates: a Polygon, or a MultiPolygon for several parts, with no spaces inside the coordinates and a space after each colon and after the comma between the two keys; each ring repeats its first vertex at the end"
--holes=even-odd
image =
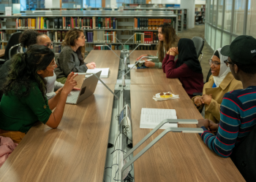
{"type": "MultiPolygon", "coordinates": [[[[78,39],[80,36],[80,33],[83,33],[80,29],[77,28],[72,28],[70,31],[67,32],[64,41],[62,42],[63,46],[70,46],[74,47],[75,46],[75,39],[78,39]]],[[[86,44],[83,47],[79,47],[78,50],[78,59],[80,60],[80,65],[82,65],[83,58],[86,52],[86,44]]]]}

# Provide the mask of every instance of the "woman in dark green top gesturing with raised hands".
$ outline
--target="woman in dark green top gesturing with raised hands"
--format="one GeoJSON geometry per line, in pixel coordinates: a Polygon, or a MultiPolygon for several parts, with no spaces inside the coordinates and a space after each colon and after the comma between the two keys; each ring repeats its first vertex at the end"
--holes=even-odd
{"type": "Polygon", "coordinates": [[[1,136],[19,143],[37,121],[58,127],[67,95],[77,82],[76,75],[69,74],[63,89],[48,102],[45,77],[53,76],[55,64],[53,51],[42,45],[32,45],[25,53],[12,57],[0,105],[1,136]]]}

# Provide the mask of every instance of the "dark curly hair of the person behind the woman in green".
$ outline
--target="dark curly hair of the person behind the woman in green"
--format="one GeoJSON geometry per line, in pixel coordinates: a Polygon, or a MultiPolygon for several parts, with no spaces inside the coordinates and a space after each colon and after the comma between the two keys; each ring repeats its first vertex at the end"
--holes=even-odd
{"type": "Polygon", "coordinates": [[[29,47],[31,45],[37,44],[37,36],[42,36],[43,33],[38,33],[33,30],[26,30],[20,35],[19,41],[22,47],[29,47]]]}

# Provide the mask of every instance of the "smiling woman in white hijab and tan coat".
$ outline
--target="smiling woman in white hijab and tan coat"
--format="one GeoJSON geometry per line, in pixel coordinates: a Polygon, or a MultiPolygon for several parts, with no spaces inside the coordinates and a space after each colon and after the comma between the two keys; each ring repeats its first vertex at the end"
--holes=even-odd
{"type": "Polygon", "coordinates": [[[230,68],[224,63],[227,56],[220,53],[219,48],[209,60],[211,65],[211,76],[209,81],[203,86],[203,96],[192,98],[198,110],[204,113],[206,119],[217,123],[219,122],[219,110],[222,103],[223,95],[232,90],[242,89],[243,85],[240,81],[234,79],[230,68]]]}

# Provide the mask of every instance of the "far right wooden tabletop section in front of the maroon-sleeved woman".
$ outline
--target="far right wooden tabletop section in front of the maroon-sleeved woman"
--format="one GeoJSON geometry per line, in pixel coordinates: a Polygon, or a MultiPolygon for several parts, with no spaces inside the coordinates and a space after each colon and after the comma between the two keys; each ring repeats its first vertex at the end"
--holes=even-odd
{"type": "MultiPolygon", "coordinates": [[[[157,50],[135,50],[129,56],[130,64],[134,64],[140,55],[157,55],[157,50]]],[[[131,84],[181,84],[178,79],[167,79],[162,68],[145,68],[131,70],[131,84]]]]}

